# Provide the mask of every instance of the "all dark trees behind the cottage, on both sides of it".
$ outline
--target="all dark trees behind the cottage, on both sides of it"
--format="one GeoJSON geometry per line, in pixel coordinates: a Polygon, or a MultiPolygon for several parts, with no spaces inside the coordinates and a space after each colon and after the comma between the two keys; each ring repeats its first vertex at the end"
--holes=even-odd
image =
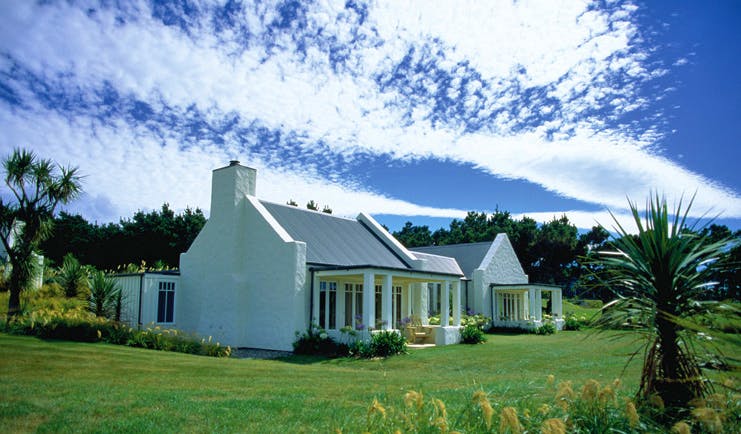
{"type": "MultiPolygon", "coordinates": [[[[190,247],[205,223],[200,209],[188,208],[176,214],[168,204],[104,225],[62,212],[55,217],[53,235],[41,244],[41,250],[53,265],[60,265],[64,255],[72,253],[81,263],[98,269],[114,270],[142,261],[148,266],[176,268],[180,253],[190,247]]],[[[600,283],[602,270],[588,261],[597,251],[609,247],[610,234],[596,226],[580,234],[566,216],[538,224],[529,217],[514,219],[506,211],[469,212],[464,219],[453,220],[447,229],[433,232],[428,226],[407,222],[393,235],[407,247],[420,247],[492,241],[499,233],[509,237],[531,282],[559,285],[567,296],[612,299],[612,292],[600,283]]],[[[729,236],[741,240],[741,231],[733,233],[727,226],[716,224],[697,235],[711,241],[729,236]]],[[[721,258],[718,265],[722,267],[714,275],[718,283],[708,291],[709,296],[741,298],[739,264],[741,243],[737,242],[721,258]]]]}

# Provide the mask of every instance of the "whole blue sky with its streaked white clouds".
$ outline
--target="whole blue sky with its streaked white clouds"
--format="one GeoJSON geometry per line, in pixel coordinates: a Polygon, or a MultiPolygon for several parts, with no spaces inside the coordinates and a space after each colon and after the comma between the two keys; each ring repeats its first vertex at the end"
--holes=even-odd
{"type": "MultiPolygon", "coordinates": [[[[211,170],[392,230],[626,196],[741,228],[738,2],[0,1],[0,151],[86,175],[117,221],[208,210],[211,170]],[[117,4],[120,3],[120,4],[117,4]]],[[[3,191],[3,194],[7,194],[3,191]]]]}

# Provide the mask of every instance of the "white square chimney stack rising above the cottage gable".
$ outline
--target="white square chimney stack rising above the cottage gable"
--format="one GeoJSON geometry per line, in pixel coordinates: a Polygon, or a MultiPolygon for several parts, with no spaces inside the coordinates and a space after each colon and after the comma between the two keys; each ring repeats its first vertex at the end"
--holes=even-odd
{"type": "Polygon", "coordinates": [[[211,178],[210,219],[233,215],[245,196],[255,195],[257,170],[232,160],[229,165],[213,171],[211,178]]]}

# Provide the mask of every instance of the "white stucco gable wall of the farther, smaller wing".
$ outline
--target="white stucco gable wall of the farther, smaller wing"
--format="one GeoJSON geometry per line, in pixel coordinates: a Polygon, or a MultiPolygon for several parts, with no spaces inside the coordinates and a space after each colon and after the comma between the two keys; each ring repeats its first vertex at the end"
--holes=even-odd
{"type": "Polygon", "coordinates": [[[481,261],[479,268],[473,271],[469,283],[471,308],[493,318],[491,308],[491,290],[489,285],[528,283],[527,274],[522,269],[515,249],[506,234],[499,234],[494,239],[489,251],[481,261]]]}

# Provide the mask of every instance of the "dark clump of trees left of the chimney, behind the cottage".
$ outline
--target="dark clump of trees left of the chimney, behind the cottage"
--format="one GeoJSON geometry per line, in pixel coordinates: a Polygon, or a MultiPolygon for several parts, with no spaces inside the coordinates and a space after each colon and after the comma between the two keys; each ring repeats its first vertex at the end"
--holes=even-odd
{"type": "Polygon", "coordinates": [[[138,211],[131,219],[98,225],[65,212],[54,219],[52,236],[41,251],[53,265],[72,253],[81,263],[114,270],[126,264],[176,268],[180,253],[190,247],[206,224],[203,212],[187,208],[176,214],[168,204],[158,211],[138,211]]]}

